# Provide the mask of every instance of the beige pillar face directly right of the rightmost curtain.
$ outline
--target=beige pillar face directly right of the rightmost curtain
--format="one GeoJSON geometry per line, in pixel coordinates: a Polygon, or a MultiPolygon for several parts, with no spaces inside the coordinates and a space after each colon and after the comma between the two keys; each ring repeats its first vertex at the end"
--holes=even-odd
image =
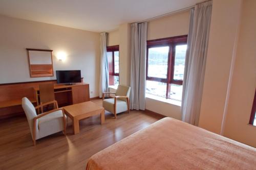
{"type": "Polygon", "coordinates": [[[221,133],[233,55],[236,54],[240,0],[214,0],[199,127],[221,133]]]}

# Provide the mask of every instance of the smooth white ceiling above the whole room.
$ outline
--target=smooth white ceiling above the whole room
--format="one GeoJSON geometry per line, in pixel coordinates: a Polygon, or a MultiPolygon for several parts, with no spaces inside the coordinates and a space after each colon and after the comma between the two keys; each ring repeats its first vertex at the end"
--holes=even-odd
{"type": "Polygon", "coordinates": [[[193,6],[204,0],[0,0],[0,14],[102,32],[193,6]]]}

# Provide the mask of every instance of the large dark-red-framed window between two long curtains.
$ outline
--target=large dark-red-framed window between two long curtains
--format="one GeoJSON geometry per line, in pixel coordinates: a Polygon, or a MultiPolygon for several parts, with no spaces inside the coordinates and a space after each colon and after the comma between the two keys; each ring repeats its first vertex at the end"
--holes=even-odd
{"type": "Polygon", "coordinates": [[[187,35],[147,41],[146,93],[181,101],[187,35]]]}

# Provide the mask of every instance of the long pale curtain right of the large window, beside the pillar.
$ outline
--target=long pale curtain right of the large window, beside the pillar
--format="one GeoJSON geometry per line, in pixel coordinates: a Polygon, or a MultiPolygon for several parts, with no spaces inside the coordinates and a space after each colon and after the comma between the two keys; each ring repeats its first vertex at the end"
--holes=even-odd
{"type": "Polygon", "coordinates": [[[183,79],[182,120],[198,126],[210,30],[212,1],[190,11],[187,53],[183,79]]]}

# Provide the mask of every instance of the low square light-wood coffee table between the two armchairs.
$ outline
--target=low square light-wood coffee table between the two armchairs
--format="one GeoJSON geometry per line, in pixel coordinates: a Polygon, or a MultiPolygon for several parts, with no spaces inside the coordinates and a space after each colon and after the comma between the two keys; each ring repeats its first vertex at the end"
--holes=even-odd
{"type": "Polygon", "coordinates": [[[79,133],[79,120],[100,114],[101,124],[105,122],[105,109],[93,102],[83,102],[63,107],[72,119],[74,134],[79,133]]]}

